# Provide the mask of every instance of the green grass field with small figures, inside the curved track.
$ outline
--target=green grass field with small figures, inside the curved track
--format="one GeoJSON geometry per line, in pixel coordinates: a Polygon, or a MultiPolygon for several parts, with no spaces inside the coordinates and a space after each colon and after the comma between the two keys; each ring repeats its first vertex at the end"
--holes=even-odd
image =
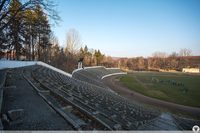
{"type": "Polygon", "coordinates": [[[120,77],[120,82],[149,97],[200,107],[200,75],[133,72],[120,77]]]}

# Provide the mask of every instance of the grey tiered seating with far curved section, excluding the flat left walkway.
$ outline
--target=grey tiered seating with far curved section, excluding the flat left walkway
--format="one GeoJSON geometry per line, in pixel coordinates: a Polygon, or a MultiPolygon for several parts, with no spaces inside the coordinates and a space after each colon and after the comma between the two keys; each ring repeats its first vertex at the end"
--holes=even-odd
{"type": "Polygon", "coordinates": [[[101,79],[122,73],[120,69],[88,67],[70,75],[37,63],[16,70],[18,73],[13,77],[23,75],[37,94],[68,123],[70,130],[188,130],[193,124],[199,124],[199,121],[163,114],[110,91],[101,79]]]}

